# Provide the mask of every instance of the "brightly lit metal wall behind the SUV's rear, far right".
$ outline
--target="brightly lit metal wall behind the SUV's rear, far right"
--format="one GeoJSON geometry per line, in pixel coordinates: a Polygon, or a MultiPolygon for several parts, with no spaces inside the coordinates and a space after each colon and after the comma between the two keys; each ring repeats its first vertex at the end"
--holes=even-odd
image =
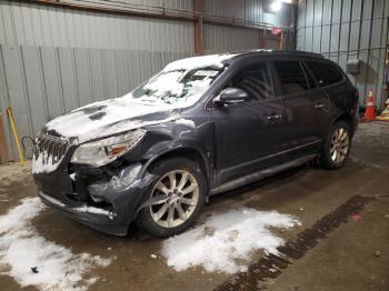
{"type": "Polygon", "coordinates": [[[388,0],[300,0],[297,49],[322,53],[345,70],[348,60],[360,59],[361,72],[349,74],[360,103],[371,88],[376,106],[382,108],[388,17],[388,0]]]}

